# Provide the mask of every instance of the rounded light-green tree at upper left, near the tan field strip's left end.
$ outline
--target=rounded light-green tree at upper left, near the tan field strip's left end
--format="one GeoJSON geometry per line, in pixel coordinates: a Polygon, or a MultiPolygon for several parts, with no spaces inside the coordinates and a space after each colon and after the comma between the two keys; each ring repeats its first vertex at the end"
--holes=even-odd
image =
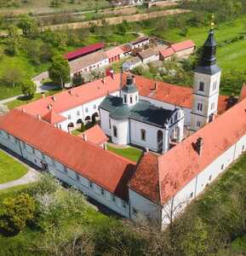
{"type": "Polygon", "coordinates": [[[37,21],[29,15],[20,15],[20,20],[17,26],[20,27],[25,37],[33,37],[37,35],[37,21]]]}

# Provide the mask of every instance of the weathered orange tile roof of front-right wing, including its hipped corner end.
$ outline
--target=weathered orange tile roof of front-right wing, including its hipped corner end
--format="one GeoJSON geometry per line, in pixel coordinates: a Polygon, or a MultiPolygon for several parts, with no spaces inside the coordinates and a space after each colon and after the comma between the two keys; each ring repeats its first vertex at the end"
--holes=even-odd
{"type": "Polygon", "coordinates": [[[152,201],[165,204],[169,198],[191,182],[192,178],[196,177],[220,154],[223,154],[226,149],[232,147],[239,138],[245,135],[245,109],[246,99],[237,103],[191,137],[186,138],[185,141],[170,149],[166,154],[158,157],[158,166],[155,165],[156,170],[152,171],[158,172],[158,181],[155,178],[156,184],[151,184],[149,189],[146,189],[146,184],[150,181],[148,170],[153,167],[152,161],[145,160],[150,156],[145,155],[141,161],[146,162],[146,165],[138,166],[130,181],[130,188],[141,195],[145,195],[146,198],[152,199],[152,201]],[[197,154],[193,147],[193,143],[197,142],[198,137],[203,138],[201,155],[197,154]],[[160,189],[160,201],[157,188],[160,189]]]}

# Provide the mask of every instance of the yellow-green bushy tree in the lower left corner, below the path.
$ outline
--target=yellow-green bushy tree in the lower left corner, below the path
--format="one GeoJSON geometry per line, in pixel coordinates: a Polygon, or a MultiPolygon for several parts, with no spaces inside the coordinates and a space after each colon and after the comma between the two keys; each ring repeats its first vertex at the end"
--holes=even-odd
{"type": "Polygon", "coordinates": [[[15,198],[7,198],[3,201],[3,215],[0,226],[11,234],[17,234],[31,220],[35,212],[35,201],[30,195],[20,194],[15,198]]]}

